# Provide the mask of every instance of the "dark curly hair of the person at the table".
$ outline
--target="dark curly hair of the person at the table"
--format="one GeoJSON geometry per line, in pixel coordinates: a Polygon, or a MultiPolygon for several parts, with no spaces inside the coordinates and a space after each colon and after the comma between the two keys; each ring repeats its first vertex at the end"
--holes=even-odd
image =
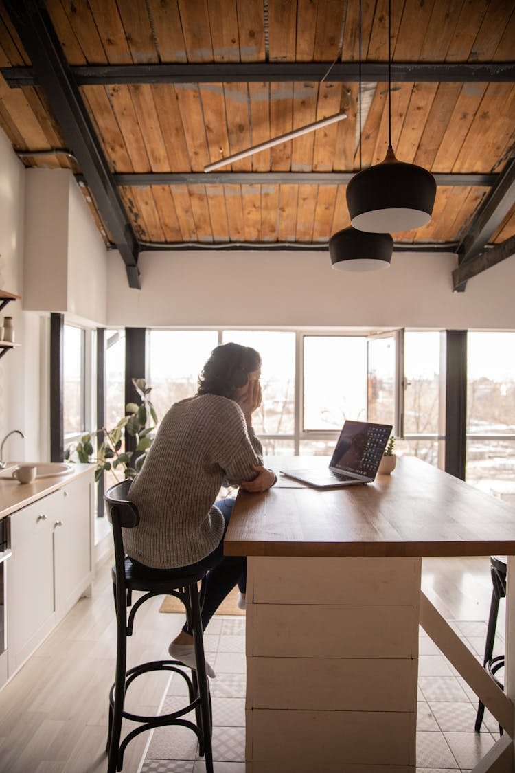
{"type": "Polygon", "coordinates": [[[239,343],[217,346],[198,376],[197,394],[219,394],[232,400],[236,390],[246,385],[249,373],[259,366],[261,356],[250,346],[239,343]]]}

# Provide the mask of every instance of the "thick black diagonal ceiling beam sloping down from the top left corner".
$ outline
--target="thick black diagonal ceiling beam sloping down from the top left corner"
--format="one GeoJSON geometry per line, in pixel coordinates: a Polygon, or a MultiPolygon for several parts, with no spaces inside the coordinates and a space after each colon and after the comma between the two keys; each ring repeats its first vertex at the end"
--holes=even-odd
{"type": "Polygon", "coordinates": [[[80,163],[100,217],[112,234],[131,288],[140,288],[137,237],[125,213],[93,124],[76,86],[46,8],[38,0],[5,0],[12,23],[46,91],[69,150],[80,163]]]}

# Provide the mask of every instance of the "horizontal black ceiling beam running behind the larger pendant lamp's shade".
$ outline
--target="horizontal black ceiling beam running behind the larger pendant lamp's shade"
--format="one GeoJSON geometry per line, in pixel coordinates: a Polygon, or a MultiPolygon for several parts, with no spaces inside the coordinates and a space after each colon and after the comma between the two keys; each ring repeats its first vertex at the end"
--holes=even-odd
{"type": "MultiPolygon", "coordinates": [[[[356,172],[117,172],[119,186],[313,185],[344,186],[356,172]]],[[[499,175],[437,172],[439,186],[493,186],[499,175]]],[[[83,175],[76,175],[78,182],[83,175]]]]}

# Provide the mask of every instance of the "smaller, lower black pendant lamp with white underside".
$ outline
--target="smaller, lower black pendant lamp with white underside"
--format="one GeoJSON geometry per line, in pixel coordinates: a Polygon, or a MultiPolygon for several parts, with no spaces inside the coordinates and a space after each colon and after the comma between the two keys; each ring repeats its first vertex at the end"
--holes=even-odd
{"type": "Polygon", "coordinates": [[[366,233],[350,226],[330,237],[330,262],[337,271],[378,271],[390,265],[393,246],[389,233],[366,233]]]}

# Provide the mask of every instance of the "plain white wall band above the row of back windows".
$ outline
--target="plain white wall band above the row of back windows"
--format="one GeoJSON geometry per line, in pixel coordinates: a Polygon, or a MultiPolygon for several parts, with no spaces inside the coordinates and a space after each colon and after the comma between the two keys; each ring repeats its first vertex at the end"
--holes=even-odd
{"type": "Polygon", "coordinates": [[[141,290],[108,254],[108,325],[515,329],[515,257],[452,292],[453,254],[395,253],[351,274],[316,252],[147,252],[141,290]]]}

